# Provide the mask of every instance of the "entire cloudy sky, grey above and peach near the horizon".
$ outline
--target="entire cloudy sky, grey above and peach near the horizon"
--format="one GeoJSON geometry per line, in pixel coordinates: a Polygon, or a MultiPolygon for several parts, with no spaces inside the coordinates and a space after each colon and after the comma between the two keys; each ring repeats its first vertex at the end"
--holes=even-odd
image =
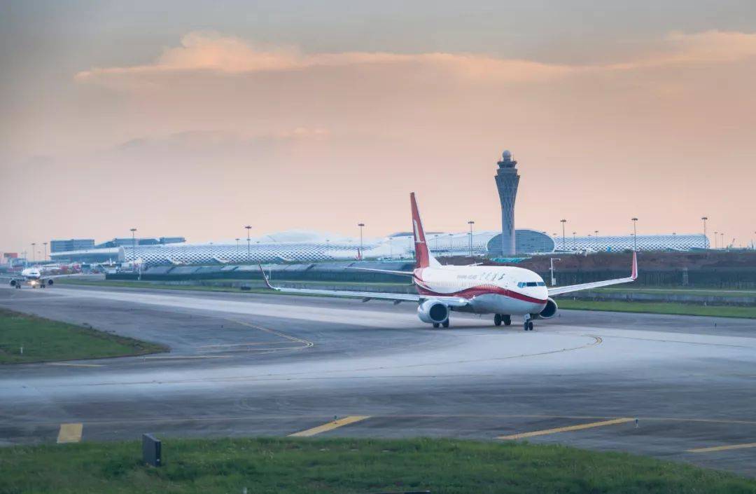
{"type": "MultiPolygon", "coordinates": [[[[756,4],[0,4],[0,251],[500,228],[756,238],[756,4]]],[[[712,239],[713,241],[713,239],[712,239]]]]}

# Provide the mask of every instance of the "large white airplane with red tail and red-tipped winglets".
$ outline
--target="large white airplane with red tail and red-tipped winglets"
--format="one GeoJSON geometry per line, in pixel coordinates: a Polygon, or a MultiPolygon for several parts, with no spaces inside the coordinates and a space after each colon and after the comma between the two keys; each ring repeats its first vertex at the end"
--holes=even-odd
{"type": "Polygon", "coordinates": [[[368,300],[393,300],[416,302],[420,321],[433,328],[449,327],[452,311],[493,314],[494,325],[512,324],[513,315],[522,315],[523,329],[533,331],[534,319],[550,319],[556,316],[559,307],[551,298],[578,290],[606,287],[612,284],[630,283],[638,275],[637,255],[633,252],[631,275],[590,283],[563,287],[547,287],[543,278],[529,269],[513,266],[442,266],[431,255],[426,244],[423,222],[417,208],[415,194],[410,194],[412,225],[415,244],[415,267],[409,272],[388,269],[355,268],[362,271],[383,272],[412,278],[417,294],[387,294],[349,290],[318,290],[309,288],[274,287],[260,266],[266,287],[281,293],[327,295],[330,297],[353,297],[368,300]]]}

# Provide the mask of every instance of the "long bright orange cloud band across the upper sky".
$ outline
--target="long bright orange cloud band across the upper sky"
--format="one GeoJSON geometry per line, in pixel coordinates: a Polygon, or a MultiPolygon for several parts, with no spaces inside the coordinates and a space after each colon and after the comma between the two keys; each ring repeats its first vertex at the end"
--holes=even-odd
{"type": "Polygon", "coordinates": [[[197,31],[181,39],[181,45],[166,48],[152,64],[104,67],[76,74],[81,82],[118,85],[119,78],[156,76],[181,71],[240,74],[307,70],[315,67],[355,67],[414,64],[447,70],[457,76],[494,82],[528,82],[553,79],[596,70],[634,70],[672,64],[727,63],[756,56],[756,33],[706,31],[670,33],[658,51],[632,61],[604,65],[546,64],[522,59],[504,59],[485,54],[346,51],[304,54],[293,46],[265,47],[234,36],[197,31]]]}

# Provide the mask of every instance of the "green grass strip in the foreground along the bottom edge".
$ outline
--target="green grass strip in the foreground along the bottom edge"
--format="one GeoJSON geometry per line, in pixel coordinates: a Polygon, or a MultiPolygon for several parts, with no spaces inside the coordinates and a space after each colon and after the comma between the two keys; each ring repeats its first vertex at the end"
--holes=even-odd
{"type": "Polygon", "coordinates": [[[136,442],[2,448],[0,492],[756,492],[756,480],[687,464],[525,443],[164,440],[163,467],[140,458],[136,442]]]}

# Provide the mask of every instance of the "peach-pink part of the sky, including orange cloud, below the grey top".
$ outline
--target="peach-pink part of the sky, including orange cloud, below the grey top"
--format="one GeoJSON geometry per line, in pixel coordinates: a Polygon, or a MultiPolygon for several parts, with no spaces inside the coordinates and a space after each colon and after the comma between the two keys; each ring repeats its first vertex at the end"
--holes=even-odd
{"type": "Polygon", "coordinates": [[[313,52],[191,31],[80,67],[2,128],[0,250],[50,238],[516,225],[756,237],[756,33],[669,31],[598,63],[471,52],[313,52]],[[34,191],[34,196],[28,192],[34,191]],[[42,200],[38,198],[42,197],[42,200]]]}

